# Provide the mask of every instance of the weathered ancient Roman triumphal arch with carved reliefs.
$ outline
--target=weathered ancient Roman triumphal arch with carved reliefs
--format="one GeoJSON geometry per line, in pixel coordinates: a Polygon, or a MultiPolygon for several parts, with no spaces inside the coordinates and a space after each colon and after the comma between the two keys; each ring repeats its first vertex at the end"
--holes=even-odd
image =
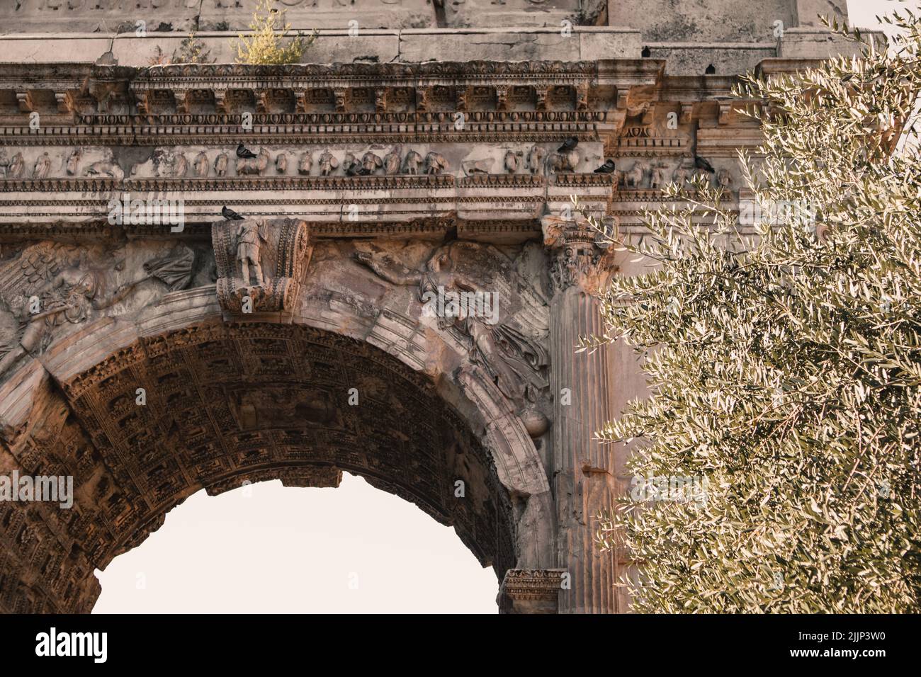
{"type": "Polygon", "coordinates": [[[0,500],[0,611],[89,611],[94,569],[202,488],[343,471],[453,526],[504,612],[627,611],[636,563],[593,534],[628,449],[593,432],[643,381],[575,348],[641,266],[570,198],[620,238],[699,172],[745,200],[761,132],[730,89],[839,50],[820,3],[367,0],[353,35],[286,0],[323,29],[287,65],[229,63],[248,1],[14,5],[0,476],[74,498],[0,500]]]}

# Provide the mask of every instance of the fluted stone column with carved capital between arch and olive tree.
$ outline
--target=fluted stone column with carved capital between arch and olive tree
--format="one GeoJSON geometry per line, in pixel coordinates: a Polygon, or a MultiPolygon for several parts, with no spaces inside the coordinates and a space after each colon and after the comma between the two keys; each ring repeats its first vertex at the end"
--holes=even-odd
{"type": "Polygon", "coordinates": [[[609,349],[577,353],[580,336],[604,333],[594,296],[611,269],[598,234],[573,222],[544,219],[544,242],[554,256],[551,301],[551,385],[554,392],[553,489],[557,507],[557,566],[569,574],[560,595],[561,613],[615,613],[614,558],[594,543],[600,511],[612,506],[611,445],[595,431],[612,411],[609,349]]]}

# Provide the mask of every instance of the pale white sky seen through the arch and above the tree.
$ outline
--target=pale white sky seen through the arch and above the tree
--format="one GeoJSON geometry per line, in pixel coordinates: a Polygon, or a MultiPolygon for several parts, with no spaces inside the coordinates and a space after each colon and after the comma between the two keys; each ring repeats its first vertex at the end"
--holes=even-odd
{"type": "MultiPolygon", "coordinates": [[[[867,28],[906,3],[847,6],[867,28]]],[[[94,613],[496,613],[498,591],[453,529],[349,474],[338,489],[199,492],[97,576],[94,613]]]]}

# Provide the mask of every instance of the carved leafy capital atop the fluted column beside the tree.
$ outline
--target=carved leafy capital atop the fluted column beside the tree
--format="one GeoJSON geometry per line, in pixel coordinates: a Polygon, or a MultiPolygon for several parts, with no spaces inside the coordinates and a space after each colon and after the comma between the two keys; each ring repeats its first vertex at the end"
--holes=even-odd
{"type": "MultiPolygon", "coordinates": [[[[605,233],[613,235],[616,218],[602,219],[605,233]]],[[[543,244],[552,255],[550,276],[554,292],[570,286],[597,295],[607,283],[613,269],[613,248],[610,241],[588,223],[567,220],[559,216],[542,218],[543,244]]]]}

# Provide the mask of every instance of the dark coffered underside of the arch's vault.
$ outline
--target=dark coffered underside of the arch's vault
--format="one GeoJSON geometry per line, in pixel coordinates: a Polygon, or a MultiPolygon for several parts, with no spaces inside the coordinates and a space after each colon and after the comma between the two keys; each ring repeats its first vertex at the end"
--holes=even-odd
{"type": "Polygon", "coordinates": [[[94,568],[202,488],[337,486],[344,471],[453,526],[500,580],[516,566],[518,508],[481,438],[431,379],[372,345],[306,326],[205,322],[138,340],[58,386],[27,449],[72,458],[91,479],[64,517],[0,506],[22,553],[6,566],[17,592],[8,611],[88,612],[94,568]],[[54,538],[62,519],[73,538],[54,538]]]}

